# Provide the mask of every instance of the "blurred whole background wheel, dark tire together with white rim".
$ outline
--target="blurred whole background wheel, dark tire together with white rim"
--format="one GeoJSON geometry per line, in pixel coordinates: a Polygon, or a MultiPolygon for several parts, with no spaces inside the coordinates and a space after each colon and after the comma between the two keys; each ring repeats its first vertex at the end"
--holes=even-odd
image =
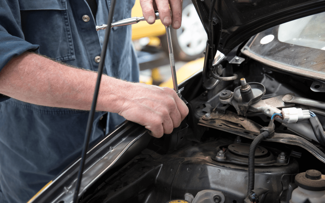
{"type": "MultiPolygon", "coordinates": [[[[170,32],[175,59],[190,61],[204,56],[208,37],[191,0],[183,1],[181,27],[171,28],[170,32]]],[[[162,48],[168,54],[166,35],[162,37],[162,48]]]]}

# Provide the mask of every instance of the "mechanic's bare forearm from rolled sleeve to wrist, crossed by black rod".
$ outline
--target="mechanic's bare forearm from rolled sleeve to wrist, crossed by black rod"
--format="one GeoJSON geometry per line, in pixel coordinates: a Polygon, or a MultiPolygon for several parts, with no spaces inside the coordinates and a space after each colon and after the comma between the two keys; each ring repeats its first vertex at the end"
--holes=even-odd
{"type": "MultiPolygon", "coordinates": [[[[12,58],[0,71],[0,93],[50,107],[89,110],[97,73],[71,68],[34,53],[12,58]]],[[[119,112],[125,82],[102,76],[97,110],[119,112]],[[117,91],[118,90],[118,91],[117,91]]]]}

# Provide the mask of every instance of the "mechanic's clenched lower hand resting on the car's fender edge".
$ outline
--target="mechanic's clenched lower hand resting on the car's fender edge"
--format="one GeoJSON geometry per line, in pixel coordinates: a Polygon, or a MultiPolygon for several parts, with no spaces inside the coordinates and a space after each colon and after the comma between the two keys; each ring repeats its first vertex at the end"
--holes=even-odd
{"type": "Polygon", "coordinates": [[[119,115],[139,123],[154,137],[170,134],[188,114],[188,107],[168,87],[131,83],[119,115]]]}

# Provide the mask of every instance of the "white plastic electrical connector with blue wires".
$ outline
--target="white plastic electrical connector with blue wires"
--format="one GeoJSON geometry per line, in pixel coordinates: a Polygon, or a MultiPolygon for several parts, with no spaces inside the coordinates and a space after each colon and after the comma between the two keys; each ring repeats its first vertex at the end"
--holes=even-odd
{"type": "Polygon", "coordinates": [[[283,120],[288,123],[295,123],[310,118],[309,110],[302,110],[301,108],[282,108],[283,120]]]}

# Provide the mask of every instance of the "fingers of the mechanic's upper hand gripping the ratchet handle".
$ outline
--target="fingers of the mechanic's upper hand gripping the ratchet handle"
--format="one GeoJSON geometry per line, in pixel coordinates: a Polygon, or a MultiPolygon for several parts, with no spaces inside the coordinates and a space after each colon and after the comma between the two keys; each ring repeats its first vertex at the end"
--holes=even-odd
{"type": "Polygon", "coordinates": [[[178,29],[182,22],[182,0],[140,0],[140,5],[142,8],[143,17],[147,20],[149,24],[155,22],[155,10],[159,11],[159,18],[162,24],[168,26],[172,24],[174,29],[178,29]],[[172,9],[172,16],[169,9],[172,9]]]}

